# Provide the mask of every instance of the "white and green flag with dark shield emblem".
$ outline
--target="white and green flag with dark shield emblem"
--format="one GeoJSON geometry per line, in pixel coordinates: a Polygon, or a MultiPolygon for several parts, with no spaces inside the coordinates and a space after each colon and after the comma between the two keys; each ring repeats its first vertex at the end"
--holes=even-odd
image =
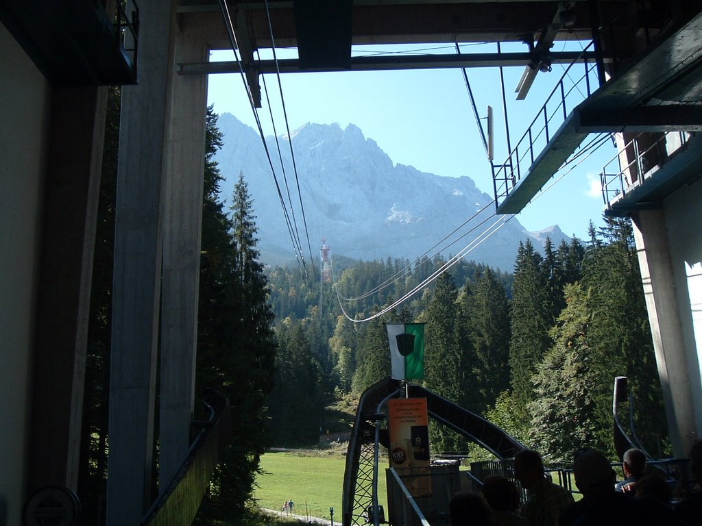
{"type": "Polygon", "coordinates": [[[386,323],[390,343],[391,377],[396,380],[424,378],[424,324],[386,323]]]}

